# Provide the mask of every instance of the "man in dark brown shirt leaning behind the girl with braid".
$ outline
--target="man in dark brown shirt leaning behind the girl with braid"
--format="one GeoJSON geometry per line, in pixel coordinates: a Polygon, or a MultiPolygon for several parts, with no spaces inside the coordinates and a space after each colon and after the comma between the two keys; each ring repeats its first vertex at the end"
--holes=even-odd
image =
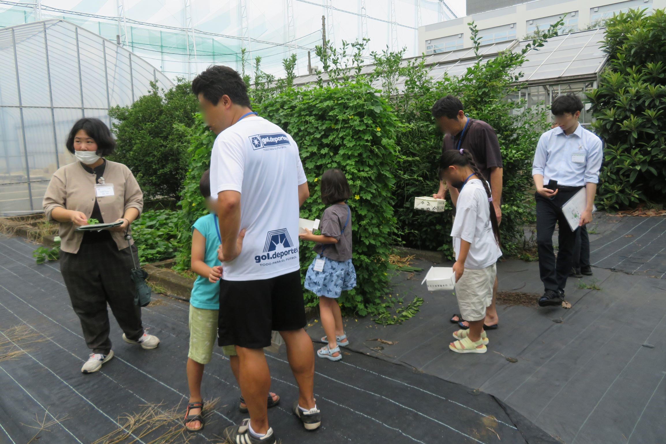
{"type": "MultiPolygon", "coordinates": [[[[495,212],[498,223],[501,223],[502,162],[500,141],[495,134],[495,130],[483,120],[468,117],[458,97],[443,97],[433,105],[431,112],[440,129],[444,132],[442,153],[445,150],[460,150],[461,148],[472,152],[480,172],[490,182],[495,212]]],[[[432,196],[444,199],[447,190],[450,190],[451,199],[455,204],[458,200],[459,190],[450,186],[450,184],[444,184],[441,180],[440,189],[432,196]]],[[[484,322],[486,330],[497,328],[498,325],[498,315],[495,307],[497,291],[498,281],[495,280],[493,301],[486,309],[486,321],[484,322]]],[[[454,315],[451,321],[454,323],[460,322],[461,327],[467,328],[467,323],[461,322],[462,320],[458,315],[454,315]]]]}

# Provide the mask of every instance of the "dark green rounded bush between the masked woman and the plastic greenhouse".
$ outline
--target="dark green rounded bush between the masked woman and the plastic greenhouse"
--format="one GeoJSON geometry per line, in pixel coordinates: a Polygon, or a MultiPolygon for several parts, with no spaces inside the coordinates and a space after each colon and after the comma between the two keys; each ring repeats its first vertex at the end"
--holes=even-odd
{"type": "Polygon", "coordinates": [[[188,156],[184,128],[194,124],[198,111],[190,83],[178,83],[168,91],[151,91],[127,107],[113,107],[109,115],[116,134],[116,154],[111,160],[127,165],[146,198],[178,198],[188,156]]]}

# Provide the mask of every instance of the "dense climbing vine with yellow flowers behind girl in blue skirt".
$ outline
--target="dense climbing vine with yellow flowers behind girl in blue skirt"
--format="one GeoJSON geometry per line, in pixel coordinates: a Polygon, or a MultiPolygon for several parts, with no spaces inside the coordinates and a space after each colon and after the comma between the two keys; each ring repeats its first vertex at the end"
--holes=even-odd
{"type": "MultiPolygon", "coordinates": [[[[388,102],[369,83],[350,82],[341,87],[288,89],[264,99],[259,114],[292,135],[308,177],[310,198],[301,217],[321,218],[318,178],[329,168],[344,171],[352,188],[354,266],[358,286],[343,294],[346,310],[360,316],[374,314],[388,286],[388,256],[394,244],[396,220],[392,204],[398,148],[398,121],[388,102]]],[[[301,242],[304,277],[315,256],[312,242],[301,242]]],[[[318,303],[308,292],[306,302],[318,303]]]]}

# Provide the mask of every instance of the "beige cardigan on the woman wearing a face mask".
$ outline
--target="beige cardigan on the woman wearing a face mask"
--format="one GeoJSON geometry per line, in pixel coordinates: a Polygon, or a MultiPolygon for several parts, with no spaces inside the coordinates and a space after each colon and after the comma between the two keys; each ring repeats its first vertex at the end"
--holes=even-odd
{"type": "MultiPolygon", "coordinates": [[[[98,197],[99,211],[104,222],[115,222],[123,217],[128,208],[137,208],[139,214],[143,210],[143,192],[139,183],[127,166],[107,160],[104,170],[106,184],[113,184],[113,196],[98,197]]],[[[53,208],[61,207],[66,210],[80,211],[90,218],[95,207],[95,174],[90,174],[81,162],[74,162],[59,168],[49,182],[49,188],[44,195],[44,213],[47,220],[54,220],[51,216],[53,208]]],[[[83,232],[77,231],[72,222],[60,222],[60,249],[68,253],[79,252],[83,232]]],[[[111,231],[118,249],[127,248],[125,233],[111,231]]],[[[133,241],[130,241],[134,243],[133,241]]]]}

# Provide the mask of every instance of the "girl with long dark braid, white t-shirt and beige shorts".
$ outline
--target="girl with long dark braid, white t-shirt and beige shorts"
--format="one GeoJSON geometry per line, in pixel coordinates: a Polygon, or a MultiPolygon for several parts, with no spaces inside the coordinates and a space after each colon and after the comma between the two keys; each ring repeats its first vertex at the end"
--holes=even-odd
{"type": "Polygon", "coordinates": [[[501,256],[500,228],[493,206],[490,186],[468,150],[448,150],[440,157],[440,179],[462,188],[451,230],[456,252],[456,298],[462,318],[470,330],[454,333],[449,348],[457,353],[486,353],[488,336],[484,331],[486,307],[493,298],[501,256]]]}

